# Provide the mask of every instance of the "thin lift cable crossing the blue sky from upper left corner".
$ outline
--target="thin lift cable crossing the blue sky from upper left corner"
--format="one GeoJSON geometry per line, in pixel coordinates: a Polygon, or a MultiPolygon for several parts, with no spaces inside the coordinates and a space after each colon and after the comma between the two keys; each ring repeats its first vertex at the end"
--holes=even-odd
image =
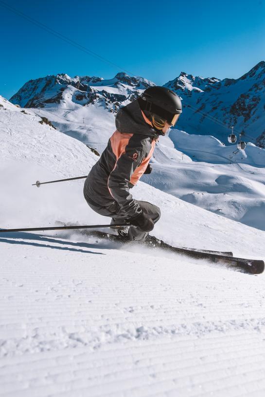
{"type": "Polygon", "coordinates": [[[29,22],[33,23],[34,25],[38,26],[39,28],[45,30],[46,32],[56,36],[57,38],[60,38],[61,40],[65,41],[66,43],[70,44],[71,46],[79,49],[80,51],[83,51],[85,53],[87,53],[88,55],[94,56],[96,58],[98,58],[99,60],[101,60],[102,62],[106,62],[112,66],[115,66],[116,68],[119,68],[120,70],[125,71],[126,73],[128,73],[129,75],[133,76],[134,74],[124,68],[122,68],[121,66],[109,61],[107,58],[97,54],[96,52],[93,52],[91,50],[89,50],[87,47],[82,46],[81,44],[78,44],[76,41],[71,40],[71,38],[62,35],[61,33],[53,30],[52,28],[50,28],[49,26],[45,25],[42,22],[39,22],[38,20],[29,17],[28,15],[24,14],[23,12],[19,11],[17,8],[10,6],[9,4],[5,3],[4,1],[0,0],[0,5],[4,8],[6,8],[7,10],[13,12],[14,14],[17,14],[19,17],[22,17],[26,20],[28,20],[29,22]]]}

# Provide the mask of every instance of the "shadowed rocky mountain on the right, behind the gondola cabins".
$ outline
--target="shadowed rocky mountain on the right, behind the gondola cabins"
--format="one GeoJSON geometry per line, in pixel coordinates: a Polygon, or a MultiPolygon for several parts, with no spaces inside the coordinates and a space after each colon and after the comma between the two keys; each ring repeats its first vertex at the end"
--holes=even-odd
{"type": "Polygon", "coordinates": [[[164,85],[182,98],[178,128],[224,142],[230,126],[246,141],[265,146],[265,62],[238,79],[194,77],[185,72],[164,85]]]}

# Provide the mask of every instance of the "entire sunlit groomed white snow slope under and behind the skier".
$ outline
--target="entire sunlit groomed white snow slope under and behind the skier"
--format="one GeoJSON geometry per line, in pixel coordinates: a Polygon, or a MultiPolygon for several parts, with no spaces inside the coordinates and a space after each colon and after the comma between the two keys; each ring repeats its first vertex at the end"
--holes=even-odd
{"type": "MultiPolygon", "coordinates": [[[[6,106],[7,108],[7,106],[6,106]]],[[[1,227],[100,223],[83,182],[98,158],[19,109],[0,108],[1,227]]],[[[144,183],[176,245],[265,258],[265,232],[144,183]]],[[[0,396],[263,396],[264,276],[77,233],[0,235],[0,396]]]]}

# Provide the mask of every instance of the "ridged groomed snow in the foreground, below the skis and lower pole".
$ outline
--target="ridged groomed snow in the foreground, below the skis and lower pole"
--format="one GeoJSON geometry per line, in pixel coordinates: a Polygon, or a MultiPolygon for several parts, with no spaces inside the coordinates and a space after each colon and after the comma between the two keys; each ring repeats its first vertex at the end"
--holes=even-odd
{"type": "Polygon", "coordinates": [[[264,395],[263,276],[92,239],[0,246],[0,396],[264,395]]]}

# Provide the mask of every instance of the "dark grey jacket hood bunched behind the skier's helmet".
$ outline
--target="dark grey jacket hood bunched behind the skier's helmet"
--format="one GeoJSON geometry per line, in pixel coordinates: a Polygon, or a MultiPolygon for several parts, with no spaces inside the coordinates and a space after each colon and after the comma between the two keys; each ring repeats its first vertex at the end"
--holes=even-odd
{"type": "Polygon", "coordinates": [[[124,134],[140,134],[154,138],[158,138],[159,135],[144,121],[137,99],[118,111],[115,124],[117,130],[124,134]]]}

